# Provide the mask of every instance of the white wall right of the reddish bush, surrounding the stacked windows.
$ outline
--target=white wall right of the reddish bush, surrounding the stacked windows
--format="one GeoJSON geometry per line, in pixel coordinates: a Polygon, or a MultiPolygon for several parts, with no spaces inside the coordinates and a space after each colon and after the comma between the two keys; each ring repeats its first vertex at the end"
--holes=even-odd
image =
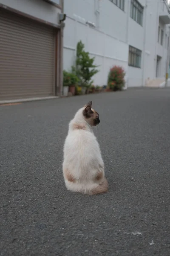
{"type": "Polygon", "coordinates": [[[129,67],[128,86],[144,86],[148,79],[156,79],[157,55],[161,57],[158,67],[159,78],[165,77],[167,61],[168,25],[165,25],[159,15],[167,14],[167,8],[162,0],[143,0],[143,24],[140,26],[133,19],[129,21],[128,42],[133,47],[142,50],[141,69],[129,67]],[[158,43],[158,27],[160,38],[158,43]],[[161,29],[164,30],[163,45],[161,45],[161,29]],[[167,35],[167,36],[166,36],[167,35]]]}

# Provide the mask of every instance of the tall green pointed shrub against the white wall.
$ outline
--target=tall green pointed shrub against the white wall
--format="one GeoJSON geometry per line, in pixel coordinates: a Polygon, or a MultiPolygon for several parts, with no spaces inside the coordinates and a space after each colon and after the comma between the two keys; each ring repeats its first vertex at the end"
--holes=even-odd
{"type": "Polygon", "coordinates": [[[85,52],[85,46],[82,41],[77,43],[77,59],[76,59],[76,74],[79,78],[79,85],[90,87],[93,81],[92,77],[99,72],[94,65],[94,58],[90,58],[89,52],[85,52]]]}

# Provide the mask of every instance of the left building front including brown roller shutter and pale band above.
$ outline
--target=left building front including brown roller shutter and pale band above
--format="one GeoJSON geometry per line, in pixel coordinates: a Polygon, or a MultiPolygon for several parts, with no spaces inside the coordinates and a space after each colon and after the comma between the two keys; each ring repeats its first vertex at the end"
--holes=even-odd
{"type": "Polygon", "coordinates": [[[61,10],[61,0],[0,0],[0,102],[59,95],[61,10]]]}

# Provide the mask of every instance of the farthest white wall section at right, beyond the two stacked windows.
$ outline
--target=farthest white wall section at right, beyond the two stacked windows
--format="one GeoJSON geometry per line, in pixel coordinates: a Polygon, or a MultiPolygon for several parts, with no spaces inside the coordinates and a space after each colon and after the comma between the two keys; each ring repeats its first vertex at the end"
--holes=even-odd
{"type": "Polygon", "coordinates": [[[162,0],[147,1],[146,10],[146,44],[145,44],[145,61],[144,61],[144,80],[156,79],[157,55],[161,57],[159,63],[159,78],[165,77],[167,61],[167,38],[169,34],[168,25],[164,25],[159,19],[162,12],[167,13],[167,9],[162,0]],[[158,29],[160,26],[159,42],[158,29]],[[161,29],[164,29],[164,40],[161,45],[161,29]],[[167,35],[167,36],[166,36],[167,35]]]}

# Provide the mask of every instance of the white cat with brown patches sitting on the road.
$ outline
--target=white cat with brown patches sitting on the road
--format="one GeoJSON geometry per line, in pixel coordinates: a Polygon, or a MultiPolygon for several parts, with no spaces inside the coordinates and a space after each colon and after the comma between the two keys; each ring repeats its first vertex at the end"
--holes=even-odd
{"type": "Polygon", "coordinates": [[[93,132],[100,122],[99,114],[91,107],[92,102],[88,102],[69,123],[62,164],[67,189],[88,195],[108,191],[99,143],[93,132]]]}

